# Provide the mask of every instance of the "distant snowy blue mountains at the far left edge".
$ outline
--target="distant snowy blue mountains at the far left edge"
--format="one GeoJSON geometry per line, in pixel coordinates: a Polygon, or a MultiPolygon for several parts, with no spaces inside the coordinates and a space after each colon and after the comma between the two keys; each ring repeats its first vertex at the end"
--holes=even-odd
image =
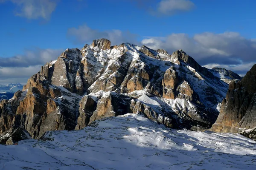
{"type": "Polygon", "coordinates": [[[23,85],[20,83],[10,83],[8,85],[0,85],[0,101],[3,99],[11,99],[16,91],[22,90],[23,85]]]}

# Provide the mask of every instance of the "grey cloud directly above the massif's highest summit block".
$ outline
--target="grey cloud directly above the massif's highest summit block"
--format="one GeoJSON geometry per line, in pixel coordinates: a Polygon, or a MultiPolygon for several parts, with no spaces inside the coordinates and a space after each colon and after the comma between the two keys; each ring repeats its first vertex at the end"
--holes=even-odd
{"type": "Polygon", "coordinates": [[[137,43],[137,35],[129,31],[120,31],[117,29],[99,31],[92,29],[87,25],[79,26],[78,28],[69,28],[67,31],[67,38],[72,42],[91,43],[95,39],[106,38],[111,41],[111,45],[119,45],[123,42],[137,43]]]}

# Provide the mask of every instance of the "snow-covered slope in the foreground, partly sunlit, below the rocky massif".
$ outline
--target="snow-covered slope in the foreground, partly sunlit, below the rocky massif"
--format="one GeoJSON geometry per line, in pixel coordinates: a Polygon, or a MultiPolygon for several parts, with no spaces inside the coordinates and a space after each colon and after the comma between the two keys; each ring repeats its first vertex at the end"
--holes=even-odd
{"type": "Polygon", "coordinates": [[[50,141],[0,145],[0,170],[256,169],[256,142],[239,134],[172,130],[137,114],[51,131],[50,141]]]}

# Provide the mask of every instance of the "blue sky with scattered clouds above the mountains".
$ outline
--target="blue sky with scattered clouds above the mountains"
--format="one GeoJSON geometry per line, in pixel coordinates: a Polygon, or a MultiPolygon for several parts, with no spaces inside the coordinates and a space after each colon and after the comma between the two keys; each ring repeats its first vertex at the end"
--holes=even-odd
{"type": "Polygon", "coordinates": [[[256,63],[255,0],[0,0],[0,83],[21,82],[93,39],[169,53],[238,74],[256,63]]]}

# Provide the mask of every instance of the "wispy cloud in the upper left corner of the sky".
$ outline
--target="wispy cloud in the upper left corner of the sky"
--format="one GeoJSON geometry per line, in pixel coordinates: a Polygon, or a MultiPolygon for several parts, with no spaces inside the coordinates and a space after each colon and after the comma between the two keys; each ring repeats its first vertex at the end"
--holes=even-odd
{"type": "Polygon", "coordinates": [[[15,11],[17,16],[44,20],[49,20],[58,2],[58,0],[1,0],[0,3],[5,1],[11,1],[17,5],[15,11]]]}

